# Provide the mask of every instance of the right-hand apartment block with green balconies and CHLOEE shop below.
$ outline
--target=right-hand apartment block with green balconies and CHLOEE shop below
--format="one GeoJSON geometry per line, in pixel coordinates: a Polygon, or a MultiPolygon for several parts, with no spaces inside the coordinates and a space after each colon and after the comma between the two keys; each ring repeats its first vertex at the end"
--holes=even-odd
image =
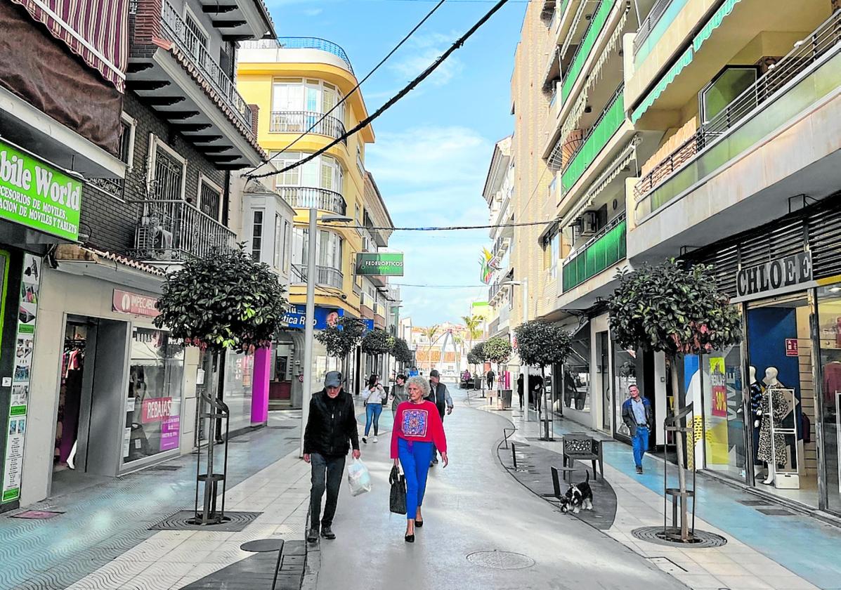
{"type": "Polygon", "coordinates": [[[572,332],[553,408],[629,442],[621,404],[637,384],[662,450],[680,397],[693,404],[689,466],[836,515],[839,23],[832,2],[529,3],[514,133],[484,191],[495,224],[554,220],[491,231],[489,292],[491,333],[520,317],[572,332]],[[673,257],[714,266],[741,345],[669,366],[616,344],[604,304],[616,271],[673,257]]]}

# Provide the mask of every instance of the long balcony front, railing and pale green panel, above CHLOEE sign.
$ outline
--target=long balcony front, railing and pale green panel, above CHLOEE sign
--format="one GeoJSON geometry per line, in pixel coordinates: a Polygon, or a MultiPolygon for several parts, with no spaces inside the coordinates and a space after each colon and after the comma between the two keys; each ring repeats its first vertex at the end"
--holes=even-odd
{"type": "Polygon", "coordinates": [[[841,85],[839,26],[841,12],[643,176],[634,187],[637,224],[841,85]]]}

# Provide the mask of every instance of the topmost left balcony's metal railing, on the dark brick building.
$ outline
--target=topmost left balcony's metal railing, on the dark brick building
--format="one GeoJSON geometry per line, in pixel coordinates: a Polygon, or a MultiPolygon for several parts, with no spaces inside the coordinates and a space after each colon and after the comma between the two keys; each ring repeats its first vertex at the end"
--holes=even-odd
{"type": "Polygon", "coordinates": [[[240,93],[236,92],[234,82],[210,55],[203,40],[198,39],[198,36],[189,29],[187,23],[177,13],[177,10],[166,1],[161,6],[161,24],[163,24],[161,32],[188,55],[190,61],[193,61],[204,79],[228,103],[236,117],[240,119],[241,124],[245,125],[246,129],[251,132],[251,108],[240,96],[240,93]]]}

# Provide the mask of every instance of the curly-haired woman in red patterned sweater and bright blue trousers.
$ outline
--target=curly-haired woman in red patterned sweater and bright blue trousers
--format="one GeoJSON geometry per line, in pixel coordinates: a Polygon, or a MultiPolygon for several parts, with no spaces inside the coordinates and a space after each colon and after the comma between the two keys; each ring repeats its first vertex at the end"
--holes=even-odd
{"type": "Polygon", "coordinates": [[[432,460],[432,444],[441,452],[446,467],[447,437],[438,408],[424,400],[429,395],[429,382],[411,377],[406,383],[409,400],[397,407],[391,430],[391,458],[394,466],[403,466],[406,476],[407,543],[415,542],[415,526],[423,526],[421,504],[426,492],[426,474],[432,460]]]}

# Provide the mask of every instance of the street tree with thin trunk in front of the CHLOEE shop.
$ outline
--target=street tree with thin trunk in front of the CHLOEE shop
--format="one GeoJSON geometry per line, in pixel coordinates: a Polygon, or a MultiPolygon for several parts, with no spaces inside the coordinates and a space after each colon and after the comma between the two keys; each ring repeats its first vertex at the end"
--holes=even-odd
{"type": "Polygon", "coordinates": [[[712,266],[686,268],[672,259],[636,271],[619,271],[616,277],[619,286],[607,302],[616,344],[663,352],[671,367],[673,420],[679,428],[675,432],[678,482],[683,500],[680,540],[690,542],[677,363],[685,355],[703,355],[737,345],[742,340],[741,319],[727,296],[718,292],[712,266]]]}

